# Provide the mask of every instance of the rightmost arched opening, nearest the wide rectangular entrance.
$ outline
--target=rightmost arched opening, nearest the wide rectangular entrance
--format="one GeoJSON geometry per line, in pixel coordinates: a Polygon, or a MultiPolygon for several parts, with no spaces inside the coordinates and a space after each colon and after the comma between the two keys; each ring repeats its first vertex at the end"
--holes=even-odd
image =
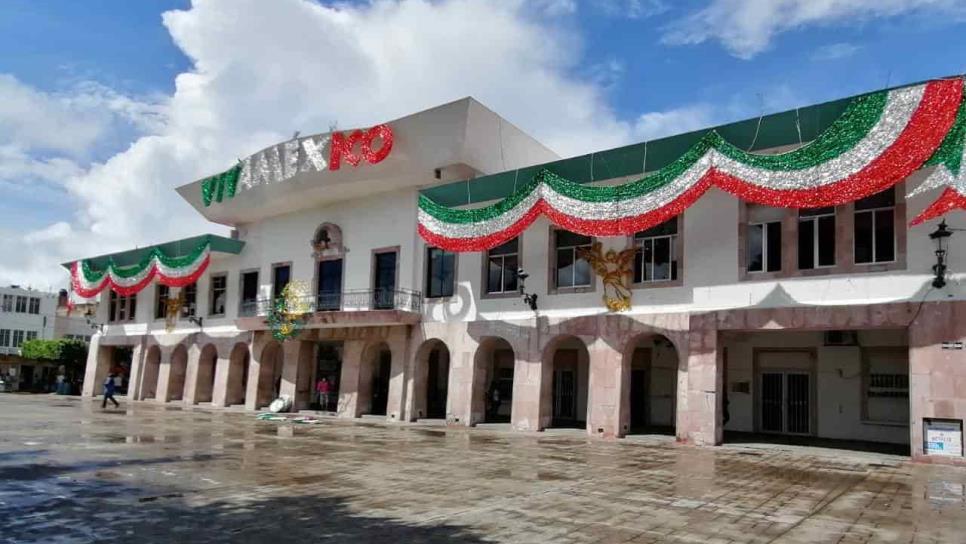
{"type": "MultiPolygon", "coordinates": [[[[674,343],[660,334],[632,340],[624,351],[629,387],[624,388],[630,413],[628,434],[674,434],[680,358],[674,343]]],[[[626,369],[626,367],[625,367],[626,369]]]]}

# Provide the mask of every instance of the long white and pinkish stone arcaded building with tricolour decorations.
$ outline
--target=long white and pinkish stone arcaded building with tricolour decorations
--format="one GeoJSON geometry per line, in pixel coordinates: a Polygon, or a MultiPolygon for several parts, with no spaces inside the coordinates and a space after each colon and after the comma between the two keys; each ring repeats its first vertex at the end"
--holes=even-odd
{"type": "Polygon", "coordinates": [[[279,144],[178,189],[231,238],[67,265],[120,291],[101,295],[85,394],[120,363],[138,399],[305,409],[326,377],[344,417],[915,457],[946,440],[962,461],[966,235],[931,287],[934,225],[908,225],[936,194],[906,196],[961,98],[931,82],[717,127],[732,147],[703,131],[566,160],[472,99],[279,144]]]}

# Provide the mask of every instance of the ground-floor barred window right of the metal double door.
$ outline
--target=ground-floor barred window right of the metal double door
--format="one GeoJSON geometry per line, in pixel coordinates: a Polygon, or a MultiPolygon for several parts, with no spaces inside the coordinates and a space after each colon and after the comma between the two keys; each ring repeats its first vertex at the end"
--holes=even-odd
{"type": "Polygon", "coordinates": [[[865,419],[909,423],[909,352],[869,348],[865,358],[865,419]]]}

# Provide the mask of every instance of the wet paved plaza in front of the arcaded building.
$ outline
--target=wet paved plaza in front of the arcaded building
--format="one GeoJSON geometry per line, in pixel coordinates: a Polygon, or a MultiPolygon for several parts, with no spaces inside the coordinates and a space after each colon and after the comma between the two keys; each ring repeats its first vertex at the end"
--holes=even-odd
{"type": "Polygon", "coordinates": [[[0,394],[0,542],[966,542],[966,469],[0,394]]]}

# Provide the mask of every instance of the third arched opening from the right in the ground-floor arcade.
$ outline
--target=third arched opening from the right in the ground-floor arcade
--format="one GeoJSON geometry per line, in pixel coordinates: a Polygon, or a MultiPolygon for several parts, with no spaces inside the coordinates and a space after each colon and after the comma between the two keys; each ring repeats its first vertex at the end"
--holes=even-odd
{"type": "Polygon", "coordinates": [[[513,415],[513,347],[502,338],[480,342],[473,357],[473,421],[510,423],[513,415]]]}

